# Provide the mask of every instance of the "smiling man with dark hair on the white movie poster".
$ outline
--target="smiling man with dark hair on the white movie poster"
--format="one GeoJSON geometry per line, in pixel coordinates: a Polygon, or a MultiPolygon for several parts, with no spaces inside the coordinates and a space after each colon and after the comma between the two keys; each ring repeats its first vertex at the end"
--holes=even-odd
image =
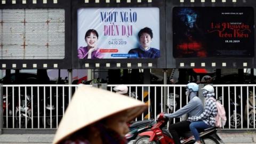
{"type": "MultiPolygon", "coordinates": [[[[139,33],[140,47],[130,50],[129,54],[136,54],[134,58],[159,58],[160,51],[151,47],[153,32],[150,28],[142,28],[139,33]]],[[[130,57],[133,58],[133,57],[130,57]]]]}

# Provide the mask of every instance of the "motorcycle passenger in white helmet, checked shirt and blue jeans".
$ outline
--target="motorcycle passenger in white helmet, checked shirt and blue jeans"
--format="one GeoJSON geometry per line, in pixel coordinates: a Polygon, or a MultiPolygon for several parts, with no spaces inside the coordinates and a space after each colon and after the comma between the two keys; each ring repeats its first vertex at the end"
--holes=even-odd
{"type": "Polygon", "coordinates": [[[215,117],[217,116],[217,106],[214,99],[214,88],[212,85],[205,85],[203,89],[203,96],[205,98],[204,112],[200,116],[188,117],[191,124],[189,125],[191,132],[193,133],[196,142],[194,144],[200,144],[200,137],[197,129],[208,129],[215,126],[215,117]]]}

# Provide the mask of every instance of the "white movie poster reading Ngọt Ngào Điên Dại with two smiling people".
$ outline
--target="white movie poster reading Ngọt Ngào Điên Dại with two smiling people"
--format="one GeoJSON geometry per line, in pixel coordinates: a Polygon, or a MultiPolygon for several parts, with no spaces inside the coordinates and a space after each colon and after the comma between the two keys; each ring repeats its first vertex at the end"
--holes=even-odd
{"type": "Polygon", "coordinates": [[[78,9],[77,39],[78,59],[159,58],[159,9],[78,9]]]}

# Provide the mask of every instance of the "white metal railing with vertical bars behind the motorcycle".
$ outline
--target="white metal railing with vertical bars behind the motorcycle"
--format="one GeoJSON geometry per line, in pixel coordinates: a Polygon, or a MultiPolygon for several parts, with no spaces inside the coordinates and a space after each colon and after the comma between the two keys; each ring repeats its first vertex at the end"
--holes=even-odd
{"type": "MultiPolygon", "coordinates": [[[[3,85],[4,129],[57,129],[72,94],[78,85],[3,85]]],[[[107,85],[113,91],[116,85],[107,85]]],[[[156,119],[167,108],[177,111],[189,101],[186,85],[127,85],[129,97],[148,103],[136,120],[156,119]],[[166,102],[164,95],[166,94],[166,102]],[[174,97],[175,95],[175,97],[174,97]],[[166,103],[167,106],[164,106],[166,103]]],[[[223,129],[255,129],[256,85],[213,85],[216,98],[226,109],[228,118],[223,129]]],[[[181,118],[175,118],[175,122],[181,118]]]]}

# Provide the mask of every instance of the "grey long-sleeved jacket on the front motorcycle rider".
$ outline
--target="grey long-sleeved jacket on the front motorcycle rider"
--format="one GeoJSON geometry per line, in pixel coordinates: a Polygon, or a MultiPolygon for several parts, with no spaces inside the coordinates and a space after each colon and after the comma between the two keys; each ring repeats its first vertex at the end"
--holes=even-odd
{"type": "Polygon", "coordinates": [[[188,117],[201,115],[204,111],[204,107],[201,99],[196,96],[196,92],[191,92],[189,99],[190,101],[186,106],[180,108],[172,114],[164,114],[164,117],[175,118],[181,117],[184,114],[188,114],[188,117]]]}

